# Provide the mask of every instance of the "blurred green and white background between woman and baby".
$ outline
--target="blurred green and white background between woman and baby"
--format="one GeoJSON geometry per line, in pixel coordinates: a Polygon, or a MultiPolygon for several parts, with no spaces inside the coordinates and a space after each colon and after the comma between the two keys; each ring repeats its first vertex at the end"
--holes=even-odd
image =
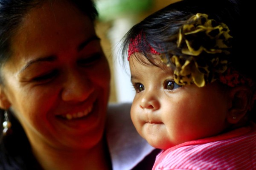
{"type": "Polygon", "coordinates": [[[120,41],[125,33],[149,14],[179,0],[94,0],[99,11],[96,33],[111,67],[110,102],[132,102],[128,61],[122,62],[120,41]]]}

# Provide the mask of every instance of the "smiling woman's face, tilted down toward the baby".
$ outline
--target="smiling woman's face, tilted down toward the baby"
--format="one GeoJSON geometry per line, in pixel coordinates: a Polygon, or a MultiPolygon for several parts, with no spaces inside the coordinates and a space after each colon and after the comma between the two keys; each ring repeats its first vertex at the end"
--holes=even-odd
{"type": "Polygon", "coordinates": [[[1,88],[32,144],[90,148],[104,131],[109,66],[89,17],[54,2],[24,18],[1,88]]]}

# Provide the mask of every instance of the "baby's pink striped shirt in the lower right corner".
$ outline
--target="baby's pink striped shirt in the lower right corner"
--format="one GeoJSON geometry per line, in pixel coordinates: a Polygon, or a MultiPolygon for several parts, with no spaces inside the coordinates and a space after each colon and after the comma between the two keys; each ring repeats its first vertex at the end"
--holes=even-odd
{"type": "Polygon", "coordinates": [[[256,170],[256,124],[164,150],[153,170],[256,170]]]}

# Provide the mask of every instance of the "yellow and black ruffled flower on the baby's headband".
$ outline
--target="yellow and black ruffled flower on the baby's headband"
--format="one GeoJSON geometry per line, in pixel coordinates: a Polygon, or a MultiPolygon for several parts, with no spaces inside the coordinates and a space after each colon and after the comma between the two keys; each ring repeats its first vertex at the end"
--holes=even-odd
{"type": "Polygon", "coordinates": [[[182,55],[161,54],[162,62],[175,66],[174,80],[178,85],[194,83],[203,87],[215,81],[227,70],[232,36],[224,23],[209,20],[207,14],[189,18],[177,36],[177,47],[182,55]]]}

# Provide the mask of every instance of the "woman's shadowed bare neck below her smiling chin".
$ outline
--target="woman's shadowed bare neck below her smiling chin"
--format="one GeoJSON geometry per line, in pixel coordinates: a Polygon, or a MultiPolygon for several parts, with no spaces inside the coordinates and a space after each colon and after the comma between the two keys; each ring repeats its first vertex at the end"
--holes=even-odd
{"type": "Polygon", "coordinates": [[[64,152],[34,147],[33,153],[43,170],[110,170],[111,160],[104,140],[87,150],[64,152]]]}

